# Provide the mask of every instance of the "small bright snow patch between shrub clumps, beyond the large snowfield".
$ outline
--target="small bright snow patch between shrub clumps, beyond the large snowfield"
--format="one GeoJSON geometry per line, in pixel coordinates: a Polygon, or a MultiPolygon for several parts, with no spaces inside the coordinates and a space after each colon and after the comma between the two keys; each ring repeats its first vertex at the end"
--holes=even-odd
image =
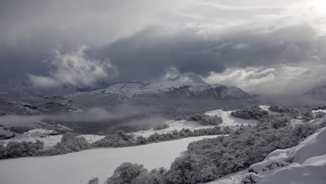
{"type": "Polygon", "coordinates": [[[220,126],[236,126],[236,125],[256,125],[257,120],[254,119],[243,119],[235,118],[231,116],[232,111],[223,111],[221,109],[206,112],[205,114],[209,116],[221,116],[223,118],[223,123],[220,126]]]}

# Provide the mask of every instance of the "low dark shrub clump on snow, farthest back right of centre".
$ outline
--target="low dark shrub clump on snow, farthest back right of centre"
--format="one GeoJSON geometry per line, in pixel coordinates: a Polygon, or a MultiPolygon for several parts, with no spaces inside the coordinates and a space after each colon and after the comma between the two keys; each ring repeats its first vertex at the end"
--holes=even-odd
{"type": "Polygon", "coordinates": [[[258,106],[251,106],[231,112],[231,116],[244,119],[260,119],[268,116],[268,112],[258,106]]]}

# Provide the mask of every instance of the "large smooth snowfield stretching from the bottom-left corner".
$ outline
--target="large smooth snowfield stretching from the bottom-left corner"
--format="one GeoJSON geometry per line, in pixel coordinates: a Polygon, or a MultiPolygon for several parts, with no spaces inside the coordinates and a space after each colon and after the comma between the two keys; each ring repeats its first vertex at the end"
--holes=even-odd
{"type": "Polygon", "coordinates": [[[147,169],[165,167],[187,150],[192,141],[215,136],[189,137],[143,146],[100,148],[51,157],[0,160],[1,183],[85,184],[98,176],[100,183],[122,162],[137,162],[147,169]]]}

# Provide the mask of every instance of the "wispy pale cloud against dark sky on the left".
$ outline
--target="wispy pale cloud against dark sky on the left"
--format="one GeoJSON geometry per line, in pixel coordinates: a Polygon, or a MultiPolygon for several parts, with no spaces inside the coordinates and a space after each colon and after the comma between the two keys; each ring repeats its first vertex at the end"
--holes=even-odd
{"type": "Polygon", "coordinates": [[[110,61],[98,61],[84,54],[86,46],[77,52],[61,54],[55,52],[49,76],[29,74],[29,79],[37,87],[73,86],[84,87],[96,84],[100,79],[116,76],[116,68],[110,61]]]}

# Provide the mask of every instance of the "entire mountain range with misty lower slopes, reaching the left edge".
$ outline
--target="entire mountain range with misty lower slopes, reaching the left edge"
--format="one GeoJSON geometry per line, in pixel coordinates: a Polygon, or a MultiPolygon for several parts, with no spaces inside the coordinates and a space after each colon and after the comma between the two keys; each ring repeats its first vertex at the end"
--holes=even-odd
{"type": "MultiPolygon", "coordinates": [[[[56,131],[68,128],[83,134],[102,134],[135,131],[179,115],[238,109],[256,103],[254,95],[235,86],[171,81],[123,82],[70,95],[37,97],[0,93],[0,116],[38,115],[40,118],[31,120],[33,125],[37,124],[36,128],[56,131]]],[[[0,123],[6,121],[5,118],[0,118],[0,123]]],[[[21,125],[20,122],[20,118],[15,118],[17,125],[21,125]]]]}

